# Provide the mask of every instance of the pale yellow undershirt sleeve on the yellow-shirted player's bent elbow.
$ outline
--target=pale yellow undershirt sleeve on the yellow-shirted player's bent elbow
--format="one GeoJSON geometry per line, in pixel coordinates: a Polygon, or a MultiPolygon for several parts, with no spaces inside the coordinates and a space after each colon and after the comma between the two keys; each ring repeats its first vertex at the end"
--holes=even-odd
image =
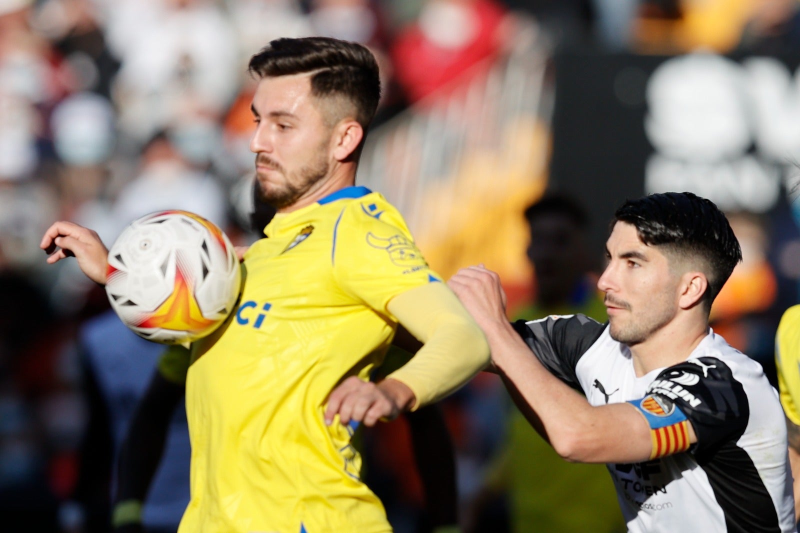
{"type": "Polygon", "coordinates": [[[387,376],[414,392],[414,410],[449,395],[489,363],[486,336],[444,283],[406,291],[388,307],[423,343],[408,363],[387,376]]]}

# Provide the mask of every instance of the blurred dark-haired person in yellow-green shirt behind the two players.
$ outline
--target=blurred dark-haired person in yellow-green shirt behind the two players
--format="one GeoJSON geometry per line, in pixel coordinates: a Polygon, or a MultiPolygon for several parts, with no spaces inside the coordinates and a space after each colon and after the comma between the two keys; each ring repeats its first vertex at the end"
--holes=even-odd
{"type": "MultiPolygon", "coordinates": [[[[606,307],[591,269],[594,261],[586,253],[585,208],[571,197],[547,195],[526,209],[525,218],[536,298],[516,318],[582,313],[605,322],[606,307]]],[[[604,465],[559,461],[515,407],[510,407],[507,422],[505,449],[490,467],[475,511],[505,493],[514,533],[534,531],[533,524],[537,531],[625,531],[604,465]]]]}

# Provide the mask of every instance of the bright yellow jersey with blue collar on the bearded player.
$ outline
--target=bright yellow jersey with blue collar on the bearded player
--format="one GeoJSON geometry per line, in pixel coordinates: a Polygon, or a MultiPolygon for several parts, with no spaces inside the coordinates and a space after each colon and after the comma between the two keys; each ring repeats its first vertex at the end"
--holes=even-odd
{"type": "Polygon", "coordinates": [[[391,531],[359,477],[354,430],[323,421],[330,391],[368,379],[397,326],[394,296],[441,282],[398,211],[347,187],[266,226],[238,309],[192,351],[191,501],[180,533],[391,531]]]}

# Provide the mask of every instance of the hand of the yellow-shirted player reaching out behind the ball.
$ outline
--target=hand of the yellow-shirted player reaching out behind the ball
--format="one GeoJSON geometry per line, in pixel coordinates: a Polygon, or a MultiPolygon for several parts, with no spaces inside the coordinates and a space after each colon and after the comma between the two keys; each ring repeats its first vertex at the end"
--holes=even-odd
{"type": "Polygon", "coordinates": [[[74,222],[54,222],[45,231],[39,247],[50,254],[47,258],[48,263],[53,264],[64,258],[74,257],[78,259],[78,266],[89,279],[105,285],[108,249],[94,230],[78,226],[74,222]]]}

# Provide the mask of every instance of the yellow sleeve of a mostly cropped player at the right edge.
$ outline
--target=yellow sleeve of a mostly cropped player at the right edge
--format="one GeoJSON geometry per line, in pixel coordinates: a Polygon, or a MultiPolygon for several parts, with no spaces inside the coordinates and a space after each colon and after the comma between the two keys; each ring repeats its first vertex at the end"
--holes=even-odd
{"type": "Polygon", "coordinates": [[[800,426],[800,305],[787,309],[778,325],[775,366],[783,411],[800,426]]]}

